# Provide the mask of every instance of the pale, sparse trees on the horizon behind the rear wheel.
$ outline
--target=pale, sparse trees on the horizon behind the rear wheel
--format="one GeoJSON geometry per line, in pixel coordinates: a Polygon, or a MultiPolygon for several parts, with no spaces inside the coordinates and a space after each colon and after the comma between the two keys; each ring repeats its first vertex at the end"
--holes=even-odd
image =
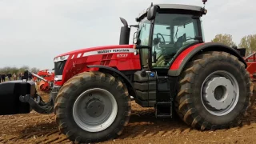
{"type": "MultiPolygon", "coordinates": [[[[226,46],[237,46],[230,34],[217,34],[211,42],[220,42],[226,46]]],[[[246,55],[256,52],[256,34],[244,36],[238,44],[238,48],[246,48],[246,55]]]]}

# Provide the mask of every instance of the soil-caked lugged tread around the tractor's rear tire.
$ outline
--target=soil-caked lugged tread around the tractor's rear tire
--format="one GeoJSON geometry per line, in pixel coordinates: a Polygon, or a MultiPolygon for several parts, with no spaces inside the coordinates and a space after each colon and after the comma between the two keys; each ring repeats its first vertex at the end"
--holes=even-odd
{"type": "Polygon", "coordinates": [[[198,54],[198,56],[194,57],[183,70],[179,81],[179,87],[183,87],[183,89],[178,91],[178,95],[175,98],[175,110],[180,118],[182,118],[182,120],[188,125],[198,130],[216,130],[231,126],[238,126],[241,123],[241,119],[246,115],[247,108],[250,106],[250,97],[252,96],[251,92],[246,95],[247,99],[245,105],[242,111],[238,114],[238,117],[234,119],[233,122],[222,126],[206,122],[205,119],[198,114],[197,110],[194,108],[194,104],[190,100],[192,94],[191,86],[194,83],[193,77],[197,75],[199,70],[202,70],[208,63],[216,60],[227,60],[237,66],[246,77],[246,91],[250,91],[250,74],[246,71],[245,65],[240,62],[237,57],[226,52],[218,51],[209,51],[204,54],[198,54]]]}

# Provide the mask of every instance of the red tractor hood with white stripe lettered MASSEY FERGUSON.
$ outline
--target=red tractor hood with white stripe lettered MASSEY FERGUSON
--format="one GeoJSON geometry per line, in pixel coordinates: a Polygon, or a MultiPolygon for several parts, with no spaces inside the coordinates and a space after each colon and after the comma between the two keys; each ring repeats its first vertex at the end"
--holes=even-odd
{"type": "Polygon", "coordinates": [[[86,71],[87,65],[102,65],[102,62],[105,66],[116,66],[118,70],[140,69],[139,55],[134,55],[135,51],[134,45],[114,45],[90,47],[59,54],[54,58],[54,85],[62,86],[63,82],[74,74],[86,71]],[[111,55],[107,62],[105,59],[102,60],[106,55],[111,55]],[[114,55],[113,58],[112,55],[114,55]]]}

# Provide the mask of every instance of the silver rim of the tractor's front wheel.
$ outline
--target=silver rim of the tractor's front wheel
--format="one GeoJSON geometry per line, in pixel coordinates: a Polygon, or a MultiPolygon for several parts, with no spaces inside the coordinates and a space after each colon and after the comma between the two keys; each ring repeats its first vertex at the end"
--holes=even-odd
{"type": "Polygon", "coordinates": [[[118,104],[109,91],[100,88],[86,90],[74,102],[74,121],[83,130],[98,132],[109,127],[118,113],[118,104]]]}

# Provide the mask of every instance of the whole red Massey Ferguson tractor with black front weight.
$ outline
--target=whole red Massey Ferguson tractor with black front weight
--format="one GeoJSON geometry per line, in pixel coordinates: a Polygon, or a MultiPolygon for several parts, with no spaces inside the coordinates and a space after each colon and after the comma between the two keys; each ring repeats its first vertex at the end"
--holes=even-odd
{"type": "MultiPolygon", "coordinates": [[[[203,0],[206,2],[206,0],[203,0]]],[[[253,83],[239,49],[205,42],[201,6],[151,4],[138,25],[121,18],[120,43],[74,50],[54,58],[54,87],[43,102],[34,82],[0,84],[0,114],[30,110],[56,115],[73,142],[117,138],[129,122],[130,96],[198,130],[241,124],[253,83]],[[137,28],[129,44],[130,28],[137,28]]]]}

